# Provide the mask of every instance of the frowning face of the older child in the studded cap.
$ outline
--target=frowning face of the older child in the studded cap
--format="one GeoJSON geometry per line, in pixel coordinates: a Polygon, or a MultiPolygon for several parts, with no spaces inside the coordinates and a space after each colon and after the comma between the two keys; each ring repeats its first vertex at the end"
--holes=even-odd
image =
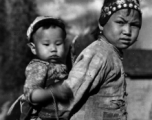
{"type": "Polygon", "coordinates": [[[121,9],[109,18],[103,27],[103,35],[118,49],[126,49],[137,40],[140,28],[139,12],[134,9],[121,9]]]}

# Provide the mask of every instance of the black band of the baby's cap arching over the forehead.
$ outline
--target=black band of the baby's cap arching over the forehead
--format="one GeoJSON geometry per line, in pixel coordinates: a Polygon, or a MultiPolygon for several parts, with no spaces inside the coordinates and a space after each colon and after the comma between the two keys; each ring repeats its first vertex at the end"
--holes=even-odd
{"type": "Polygon", "coordinates": [[[65,39],[66,38],[66,30],[65,30],[65,25],[63,24],[63,22],[61,20],[49,20],[49,19],[46,19],[46,20],[43,20],[43,21],[40,21],[38,22],[34,27],[33,27],[33,31],[31,33],[31,39],[29,42],[33,42],[33,34],[40,28],[42,27],[43,29],[48,29],[50,27],[52,28],[56,28],[56,27],[59,27],[62,29],[63,31],[63,38],[65,39]]]}

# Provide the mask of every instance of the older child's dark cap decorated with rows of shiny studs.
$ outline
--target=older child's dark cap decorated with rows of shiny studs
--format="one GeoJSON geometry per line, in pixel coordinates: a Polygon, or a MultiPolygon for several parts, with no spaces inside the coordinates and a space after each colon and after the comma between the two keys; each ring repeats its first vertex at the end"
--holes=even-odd
{"type": "Polygon", "coordinates": [[[104,0],[99,18],[99,27],[104,26],[114,12],[125,8],[135,9],[141,14],[139,0],[104,0]]]}

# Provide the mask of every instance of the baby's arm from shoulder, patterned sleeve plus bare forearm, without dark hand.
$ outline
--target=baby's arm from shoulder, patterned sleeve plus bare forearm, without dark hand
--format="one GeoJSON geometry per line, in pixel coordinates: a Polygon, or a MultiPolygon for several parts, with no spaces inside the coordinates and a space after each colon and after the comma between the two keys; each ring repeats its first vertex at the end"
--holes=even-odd
{"type": "Polygon", "coordinates": [[[24,95],[33,105],[53,101],[50,90],[44,89],[46,74],[47,66],[41,62],[33,62],[26,68],[24,95]]]}

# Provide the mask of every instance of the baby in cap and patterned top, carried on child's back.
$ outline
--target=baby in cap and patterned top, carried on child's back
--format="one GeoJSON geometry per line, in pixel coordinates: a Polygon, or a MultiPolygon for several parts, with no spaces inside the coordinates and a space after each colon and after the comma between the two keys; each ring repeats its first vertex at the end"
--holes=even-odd
{"type": "Polygon", "coordinates": [[[35,58],[26,67],[21,120],[55,119],[57,104],[67,104],[71,90],[60,84],[68,76],[63,21],[39,16],[27,31],[28,46],[35,58]]]}

